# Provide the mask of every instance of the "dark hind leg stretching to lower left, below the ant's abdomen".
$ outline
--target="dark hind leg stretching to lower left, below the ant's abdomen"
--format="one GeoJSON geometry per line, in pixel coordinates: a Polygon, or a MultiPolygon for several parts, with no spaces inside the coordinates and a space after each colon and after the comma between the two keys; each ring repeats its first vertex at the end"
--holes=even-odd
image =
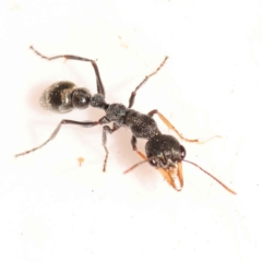
{"type": "Polygon", "coordinates": [[[40,144],[39,146],[37,147],[34,147],[29,151],[25,151],[23,153],[20,153],[20,154],[16,154],[15,157],[19,157],[19,156],[22,156],[22,155],[27,155],[36,150],[39,150],[44,145],[46,145],[48,142],[50,142],[51,140],[53,140],[56,138],[56,135],[58,134],[59,130],[61,129],[62,124],[78,124],[78,126],[82,126],[83,128],[92,128],[92,127],[95,127],[97,124],[99,124],[100,122],[99,121],[86,121],[86,122],[79,122],[79,121],[73,121],[73,120],[67,120],[67,119],[63,119],[58,126],[57,128],[55,129],[55,131],[52,132],[52,134],[49,136],[49,139],[40,144]]]}

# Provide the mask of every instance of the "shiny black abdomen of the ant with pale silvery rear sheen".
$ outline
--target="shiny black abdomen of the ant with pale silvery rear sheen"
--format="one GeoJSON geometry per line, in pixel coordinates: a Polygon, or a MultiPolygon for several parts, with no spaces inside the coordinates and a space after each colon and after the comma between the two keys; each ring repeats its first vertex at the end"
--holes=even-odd
{"type": "Polygon", "coordinates": [[[74,108],[85,109],[91,102],[87,88],[79,88],[74,83],[60,81],[50,85],[40,97],[40,105],[56,112],[69,112],[74,108]]]}

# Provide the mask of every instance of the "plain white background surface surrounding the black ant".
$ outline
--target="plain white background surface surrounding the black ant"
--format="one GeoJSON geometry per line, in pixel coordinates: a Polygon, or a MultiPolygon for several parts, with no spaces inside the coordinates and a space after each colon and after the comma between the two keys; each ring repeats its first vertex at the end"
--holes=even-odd
{"type": "Polygon", "coordinates": [[[1,1],[0,20],[1,261],[261,261],[260,1],[13,0],[1,1]],[[104,115],[43,110],[38,98],[53,82],[94,94],[95,76],[88,63],[48,62],[31,45],[46,56],[97,59],[107,102],[126,105],[169,56],[134,108],[158,109],[187,138],[221,134],[182,144],[188,159],[238,194],[186,163],[180,193],[146,164],[122,175],[141,160],[124,129],[108,135],[107,172],[100,127],[63,127],[46,147],[15,159],[62,118],[104,115]]]}

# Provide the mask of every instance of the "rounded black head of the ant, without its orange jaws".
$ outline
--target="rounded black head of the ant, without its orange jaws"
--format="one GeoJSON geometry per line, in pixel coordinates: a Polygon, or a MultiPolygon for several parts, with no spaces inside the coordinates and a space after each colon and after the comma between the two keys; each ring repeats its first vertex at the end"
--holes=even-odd
{"type": "Polygon", "coordinates": [[[156,168],[174,169],[178,162],[186,156],[186,150],[178,140],[171,135],[157,134],[145,144],[146,157],[151,158],[150,164],[156,168]]]}

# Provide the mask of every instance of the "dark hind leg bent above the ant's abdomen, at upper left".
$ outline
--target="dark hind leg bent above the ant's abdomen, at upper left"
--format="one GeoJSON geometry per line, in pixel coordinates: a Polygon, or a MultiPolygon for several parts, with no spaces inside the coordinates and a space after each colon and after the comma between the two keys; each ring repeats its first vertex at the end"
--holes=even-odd
{"type": "Polygon", "coordinates": [[[88,59],[88,58],[82,58],[82,57],[78,57],[78,56],[73,56],[73,55],[60,55],[60,56],[55,56],[55,57],[46,57],[46,56],[41,55],[40,52],[38,52],[33,46],[31,46],[29,48],[36,55],[38,55],[39,57],[41,57],[44,59],[47,59],[47,60],[53,60],[53,59],[58,59],[58,58],[66,58],[66,59],[70,59],[70,60],[79,60],[79,61],[91,62],[92,67],[95,70],[95,74],[96,74],[97,93],[102,94],[104,96],[106,95],[104,85],[102,83],[99,70],[98,70],[98,67],[97,67],[95,60],[92,60],[92,59],[88,59]]]}

